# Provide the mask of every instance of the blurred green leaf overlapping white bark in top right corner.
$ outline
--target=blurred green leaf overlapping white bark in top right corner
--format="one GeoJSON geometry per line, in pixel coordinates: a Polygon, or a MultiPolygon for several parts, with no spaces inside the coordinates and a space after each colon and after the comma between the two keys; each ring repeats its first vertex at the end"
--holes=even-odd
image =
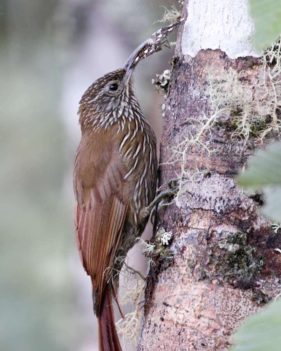
{"type": "Polygon", "coordinates": [[[281,1],[249,0],[250,15],[255,22],[253,44],[262,49],[271,44],[281,33],[281,1]]]}

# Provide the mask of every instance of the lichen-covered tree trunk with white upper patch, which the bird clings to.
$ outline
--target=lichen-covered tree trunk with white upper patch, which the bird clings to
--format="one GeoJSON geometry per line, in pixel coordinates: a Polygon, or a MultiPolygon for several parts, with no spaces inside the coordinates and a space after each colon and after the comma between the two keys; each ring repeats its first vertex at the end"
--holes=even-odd
{"type": "Polygon", "coordinates": [[[180,193],[155,220],[138,350],[225,350],[243,320],[280,292],[280,238],[258,211],[261,194],[236,183],[277,133],[267,124],[247,2],[235,4],[183,5],[159,166],[159,185],[177,175],[180,193]],[[263,122],[251,124],[257,114],[263,122]]]}

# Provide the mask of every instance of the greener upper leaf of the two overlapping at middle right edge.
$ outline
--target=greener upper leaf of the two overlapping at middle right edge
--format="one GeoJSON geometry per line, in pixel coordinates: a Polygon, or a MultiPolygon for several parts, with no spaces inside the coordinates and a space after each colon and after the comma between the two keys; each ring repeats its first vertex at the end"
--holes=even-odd
{"type": "Polygon", "coordinates": [[[247,170],[238,178],[238,184],[248,188],[281,185],[281,144],[272,144],[250,158],[247,170]]]}

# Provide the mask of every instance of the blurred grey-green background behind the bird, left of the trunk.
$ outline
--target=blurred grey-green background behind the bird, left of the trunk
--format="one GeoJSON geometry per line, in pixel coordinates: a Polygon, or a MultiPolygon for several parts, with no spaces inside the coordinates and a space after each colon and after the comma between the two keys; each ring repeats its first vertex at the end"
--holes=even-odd
{"type": "MultiPolygon", "coordinates": [[[[0,0],[0,350],[96,350],[73,228],[78,102],[164,26],[153,23],[174,3],[0,0]]],[[[153,55],[135,73],[158,140],[162,97],[151,79],[172,54],[153,55]]],[[[139,266],[145,272],[145,260],[139,266]]]]}

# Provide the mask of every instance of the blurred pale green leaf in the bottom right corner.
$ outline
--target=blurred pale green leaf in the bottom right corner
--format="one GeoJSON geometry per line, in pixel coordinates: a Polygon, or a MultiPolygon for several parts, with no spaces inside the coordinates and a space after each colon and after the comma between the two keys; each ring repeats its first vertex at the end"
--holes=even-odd
{"type": "Polygon", "coordinates": [[[234,335],[231,351],[281,350],[281,300],[251,316],[234,335]]]}

